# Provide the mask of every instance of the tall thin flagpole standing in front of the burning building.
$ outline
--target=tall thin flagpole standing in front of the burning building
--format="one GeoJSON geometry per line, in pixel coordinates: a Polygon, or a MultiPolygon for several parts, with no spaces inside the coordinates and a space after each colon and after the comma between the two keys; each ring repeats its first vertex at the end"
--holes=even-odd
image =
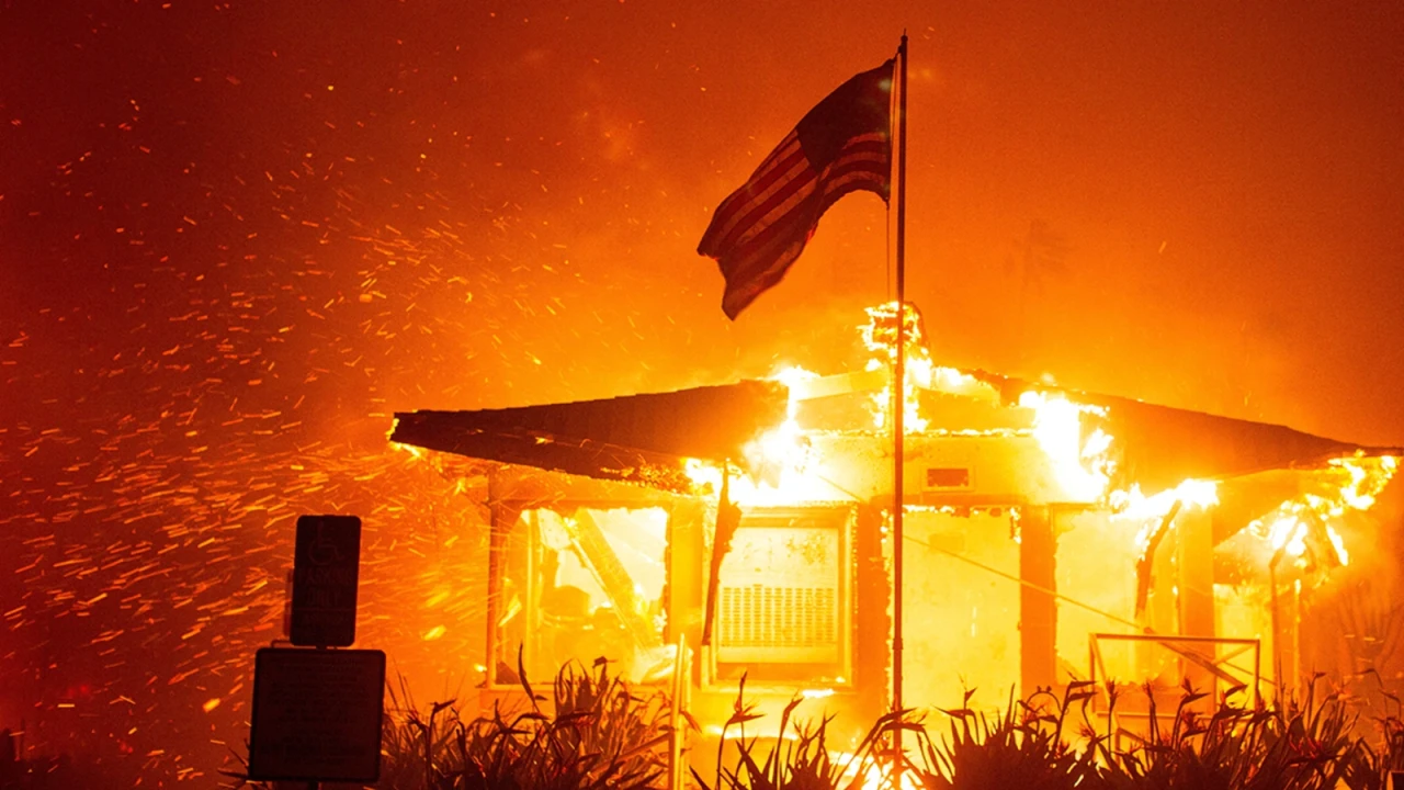
{"type": "MultiPolygon", "coordinates": [[[[901,72],[897,76],[897,357],[893,370],[893,510],[892,510],[892,708],[901,711],[901,541],[903,541],[903,433],[907,410],[906,357],[907,357],[907,31],[901,32],[901,72]]],[[[893,790],[901,790],[901,723],[893,739],[893,790]]]]}

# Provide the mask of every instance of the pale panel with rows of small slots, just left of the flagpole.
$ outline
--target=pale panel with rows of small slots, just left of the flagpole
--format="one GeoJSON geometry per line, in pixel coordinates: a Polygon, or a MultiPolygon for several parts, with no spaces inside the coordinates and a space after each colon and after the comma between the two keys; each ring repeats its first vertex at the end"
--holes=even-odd
{"type": "Polygon", "coordinates": [[[838,641],[834,588],[722,588],[720,647],[816,648],[838,641]]]}

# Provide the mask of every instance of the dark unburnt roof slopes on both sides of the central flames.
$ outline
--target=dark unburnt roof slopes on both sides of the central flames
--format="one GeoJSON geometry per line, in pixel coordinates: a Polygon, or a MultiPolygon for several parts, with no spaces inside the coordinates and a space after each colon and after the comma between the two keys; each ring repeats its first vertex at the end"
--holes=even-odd
{"type": "MultiPolygon", "coordinates": [[[[1188,478],[1227,479],[1265,470],[1317,468],[1342,455],[1400,455],[1286,426],[1158,406],[1115,395],[1047,387],[972,371],[1004,403],[1029,389],[1063,392],[1105,408],[1116,439],[1118,486],[1151,493],[1188,478]]],[[[872,384],[872,382],[868,382],[872,384]]],[[[741,461],[743,447],[786,417],[789,389],[741,381],[510,409],[418,410],[395,415],[390,440],[470,458],[522,464],[687,492],[681,458],[741,461]]]]}

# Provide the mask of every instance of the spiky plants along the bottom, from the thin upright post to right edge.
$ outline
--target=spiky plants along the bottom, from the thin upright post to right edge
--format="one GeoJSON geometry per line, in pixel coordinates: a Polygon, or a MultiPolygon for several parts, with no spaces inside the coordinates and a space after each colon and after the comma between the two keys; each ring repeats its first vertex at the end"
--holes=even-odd
{"type": "MultiPolygon", "coordinates": [[[[1182,687],[1171,710],[1158,710],[1155,690],[1144,686],[1148,713],[1141,734],[1116,724],[1119,690],[1108,685],[1105,713],[1090,701],[1099,690],[1088,682],[1063,693],[1040,689],[1028,699],[1012,694],[1000,711],[969,707],[942,710],[941,725],[913,711],[875,724],[859,755],[835,763],[824,749],[828,720],[804,728],[781,720],[779,738],[768,752],[757,738],[739,738],[737,758],[716,780],[695,775],[703,790],[856,790],[890,787],[890,748],[885,734],[894,727],[914,732],[917,746],[904,756],[903,787],[921,790],[1389,790],[1389,772],[1404,762],[1404,718],[1396,700],[1393,715],[1379,720],[1379,738],[1358,735],[1360,721],[1338,693],[1313,680],[1300,699],[1282,706],[1247,706],[1244,689],[1231,689],[1202,713],[1205,694],[1182,687]],[[855,763],[856,770],[855,770],[855,763]]],[[[754,718],[737,700],[727,727],[744,728],[754,718]]]]}

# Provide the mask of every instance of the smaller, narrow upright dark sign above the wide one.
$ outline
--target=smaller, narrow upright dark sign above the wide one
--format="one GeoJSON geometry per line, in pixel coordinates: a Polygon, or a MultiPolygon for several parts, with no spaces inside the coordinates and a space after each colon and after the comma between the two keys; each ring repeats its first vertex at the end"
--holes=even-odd
{"type": "Polygon", "coordinates": [[[299,647],[355,642],[355,589],[361,564],[361,519],[299,516],[292,555],[292,616],[288,638],[299,647]]]}

